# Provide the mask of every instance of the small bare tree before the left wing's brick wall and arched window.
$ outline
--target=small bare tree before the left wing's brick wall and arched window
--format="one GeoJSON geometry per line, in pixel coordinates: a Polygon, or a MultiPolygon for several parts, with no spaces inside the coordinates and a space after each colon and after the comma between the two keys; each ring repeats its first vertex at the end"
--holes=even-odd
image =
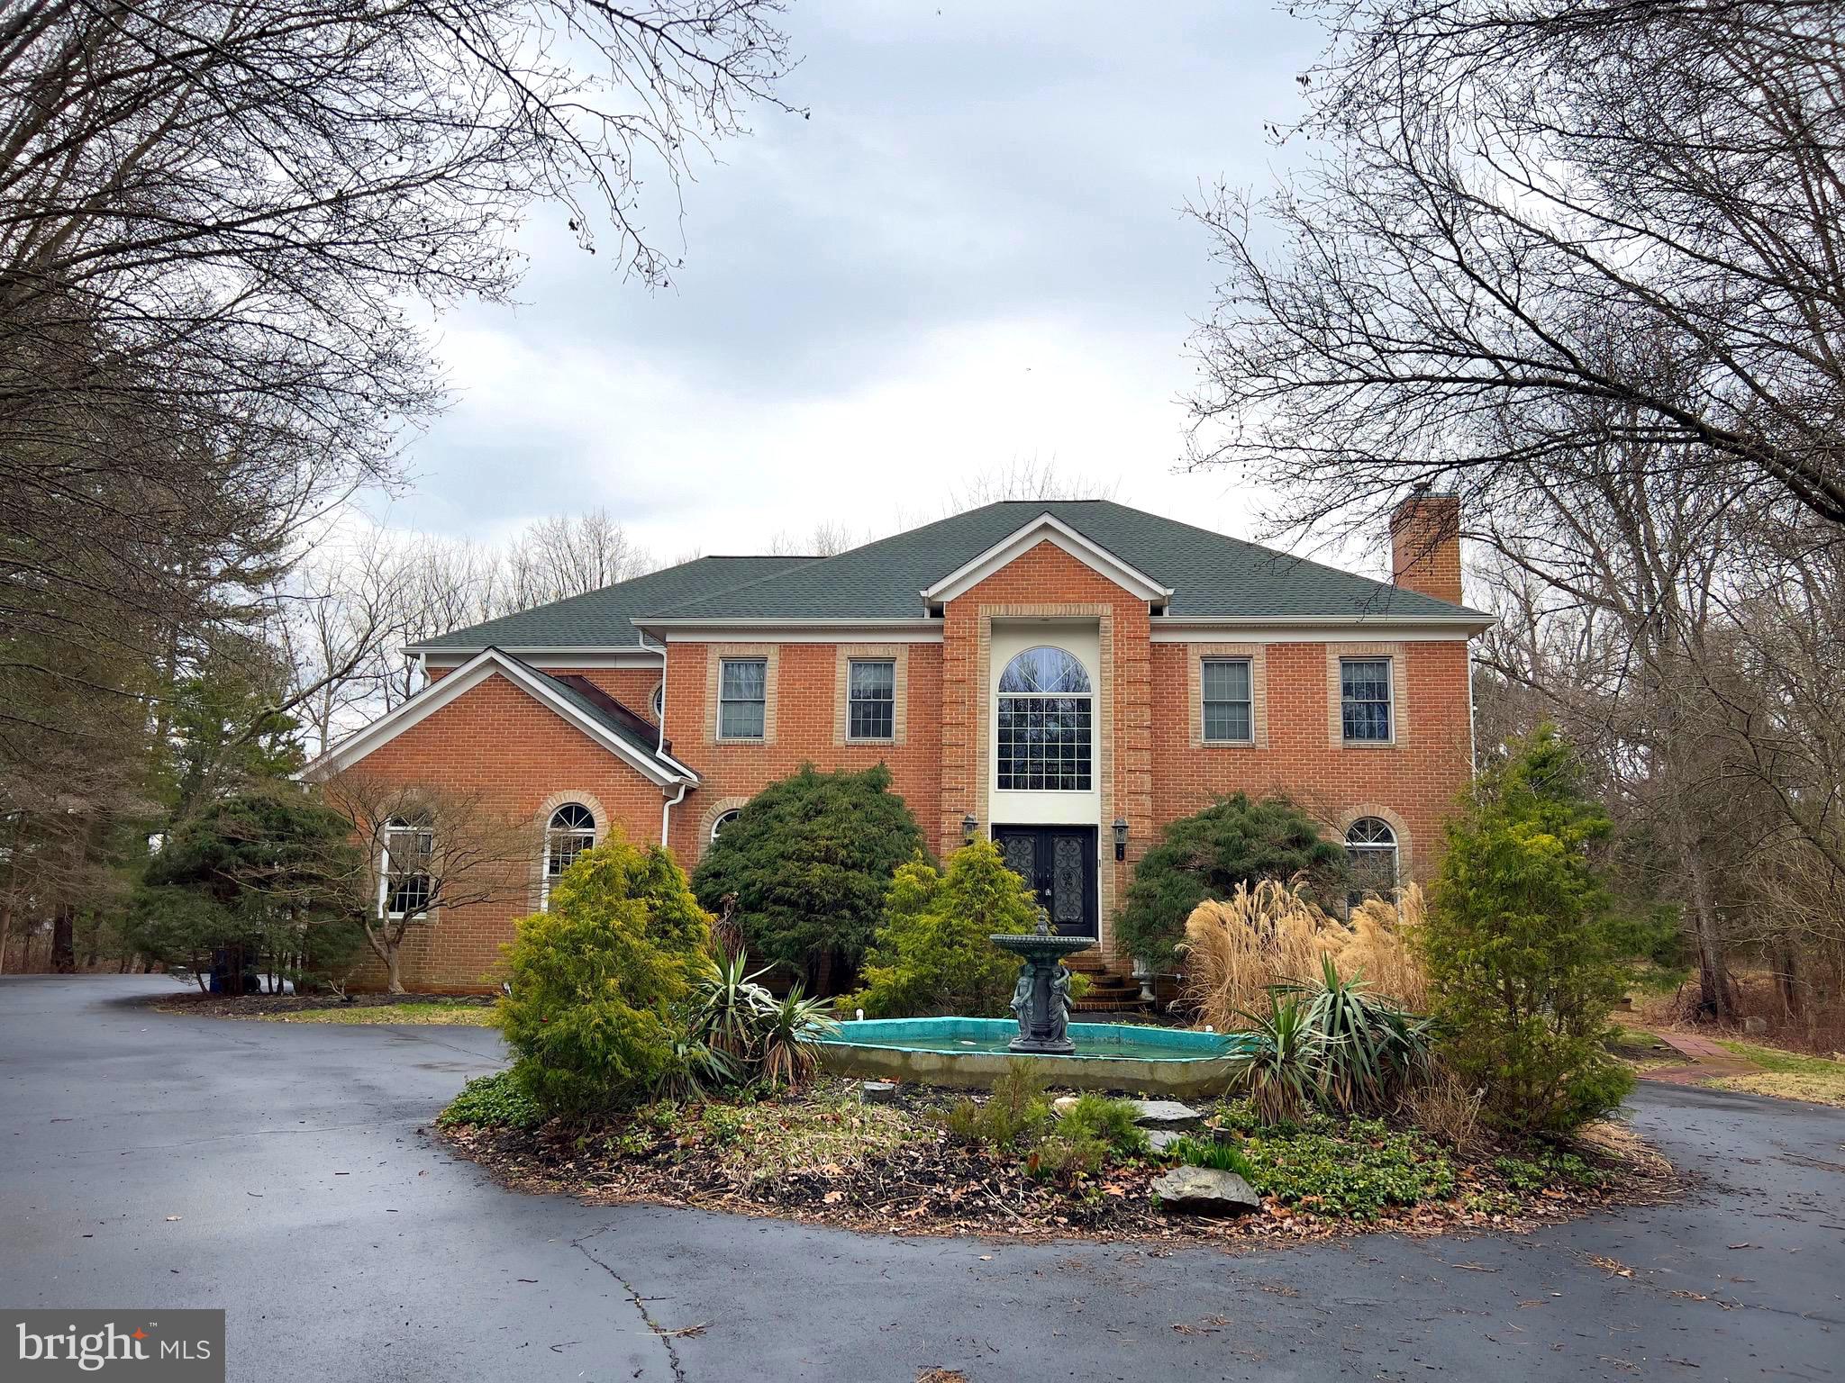
{"type": "Polygon", "coordinates": [[[341,843],[330,863],[349,870],[351,907],[391,994],[404,992],[402,944],[411,928],[520,900],[531,887],[542,826],[489,793],[347,771],[323,784],[323,800],[352,826],[356,850],[341,843]]]}

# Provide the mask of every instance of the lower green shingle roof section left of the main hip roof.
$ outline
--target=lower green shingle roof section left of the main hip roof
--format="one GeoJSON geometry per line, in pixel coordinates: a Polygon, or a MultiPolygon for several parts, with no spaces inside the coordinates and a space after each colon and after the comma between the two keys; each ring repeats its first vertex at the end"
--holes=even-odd
{"type": "Polygon", "coordinates": [[[633,581],[592,590],[587,596],[535,605],[487,623],[454,629],[417,644],[419,649],[550,649],[622,647],[640,642],[635,616],[662,605],[699,599],[742,586],[758,577],[788,572],[815,557],[699,557],[692,562],[649,572],[633,581]]]}

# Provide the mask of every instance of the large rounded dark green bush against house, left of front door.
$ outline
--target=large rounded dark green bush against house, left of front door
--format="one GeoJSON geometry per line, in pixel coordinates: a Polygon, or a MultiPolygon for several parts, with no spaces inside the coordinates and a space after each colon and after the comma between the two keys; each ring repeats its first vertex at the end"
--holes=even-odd
{"type": "Polygon", "coordinates": [[[882,763],[863,773],[803,765],[756,793],[692,876],[712,911],[734,894],[749,948],[806,975],[812,994],[834,994],[858,968],[891,874],[922,850],[889,786],[882,763]]]}

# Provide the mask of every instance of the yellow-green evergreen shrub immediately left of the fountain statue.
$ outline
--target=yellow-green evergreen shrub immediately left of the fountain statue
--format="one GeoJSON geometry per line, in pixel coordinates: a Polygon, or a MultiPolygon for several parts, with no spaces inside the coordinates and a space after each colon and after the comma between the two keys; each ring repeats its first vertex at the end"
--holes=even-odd
{"type": "Polygon", "coordinates": [[[1037,904],[991,841],[948,856],[937,874],[922,856],[897,870],[884,926],[865,957],[867,988],[841,1001],[867,1018],[1004,1018],[1018,957],[987,937],[1030,931],[1037,904]]]}

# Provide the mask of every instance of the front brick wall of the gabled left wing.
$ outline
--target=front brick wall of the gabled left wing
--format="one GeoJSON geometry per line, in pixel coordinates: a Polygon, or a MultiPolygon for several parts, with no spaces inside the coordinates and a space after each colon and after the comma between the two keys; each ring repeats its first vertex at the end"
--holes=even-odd
{"type": "MultiPolygon", "coordinates": [[[[661,837],[661,789],[498,675],[380,745],[354,771],[404,784],[483,789],[506,813],[528,819],[570,795],[600,808],[598,839],[607,819],[631,841],[661,837]]],[[[500,944],[513,939],[513,920],[537,907],[537,867],[533,859],[530,896],[450,909],[434,922],[413,924],[404,935],[404,987],[489,988],[500,944]]],[[[367,972],[367,981],[382,988],[384,968],[367,972]]]]}

